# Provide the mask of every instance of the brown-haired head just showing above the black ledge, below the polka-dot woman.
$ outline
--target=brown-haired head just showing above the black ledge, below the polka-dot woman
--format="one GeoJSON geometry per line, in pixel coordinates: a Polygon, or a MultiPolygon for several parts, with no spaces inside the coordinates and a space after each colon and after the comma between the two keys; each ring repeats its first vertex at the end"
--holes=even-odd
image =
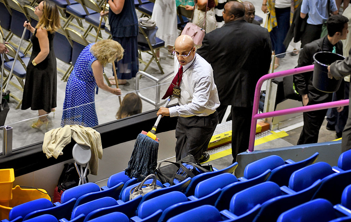
{"type": "Polygon", "coordinates": [[[143,105],[140,97],[134,92],[128,93],[122,100],[121,106],[116,113],[116,119],[122,119],[128,116],[141,113],[143,105]]]}

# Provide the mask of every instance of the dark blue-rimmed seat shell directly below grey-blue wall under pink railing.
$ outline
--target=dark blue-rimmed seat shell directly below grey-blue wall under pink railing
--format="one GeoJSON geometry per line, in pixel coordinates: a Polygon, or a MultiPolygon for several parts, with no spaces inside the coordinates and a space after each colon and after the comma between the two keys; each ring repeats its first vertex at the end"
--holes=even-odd
{"type": "Polygon", "coordinates": [[[294,162],[292,160],[286,160],[285,165],[278,166],[272,169],[271,175],[267,179],[267,181],[272,181],[277,183],[280,187],[289,185],[289,179],[291,174],[298,169],[301,169],[305,166],[309,166],[314,164],[318,158],[319,153],[314,153],[311,157],[299,161],[294,162]]]}

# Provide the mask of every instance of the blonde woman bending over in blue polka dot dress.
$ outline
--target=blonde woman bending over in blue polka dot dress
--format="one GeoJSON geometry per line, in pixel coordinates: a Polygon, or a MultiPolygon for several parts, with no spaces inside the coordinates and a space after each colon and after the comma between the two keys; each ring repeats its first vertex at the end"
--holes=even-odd
{"type": "Polygon", "coordinates": [[[95,88],[114,95],[121,90],[111,88],[104,83],[104,66],[122,59],[124,49],[113,40],[101,40],[86,46],[77,58],[66,86],[64,110],[61,126],[78,124],[92,127],[98,125],[95,111],[95,88]]]}

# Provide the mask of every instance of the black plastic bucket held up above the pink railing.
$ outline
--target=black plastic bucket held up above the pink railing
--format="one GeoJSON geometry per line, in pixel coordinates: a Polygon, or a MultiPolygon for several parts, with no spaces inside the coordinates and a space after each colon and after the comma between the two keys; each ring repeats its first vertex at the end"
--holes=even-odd
{"type": "Polygon", "coordinates": [[[322,92],[336,92],[339,89],[342,79],[328,78],[328,65],[337,60],[344,60],[345,57],[336,53],[321,51],[313,55],[314,69],[312,84],[314,88],[322,92]]]}

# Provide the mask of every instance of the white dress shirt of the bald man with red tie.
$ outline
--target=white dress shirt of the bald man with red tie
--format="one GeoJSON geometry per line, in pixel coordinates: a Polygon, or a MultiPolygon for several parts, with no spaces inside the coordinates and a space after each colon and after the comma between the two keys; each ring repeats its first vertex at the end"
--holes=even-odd
{"type": "MultiPolygon", "coordinates": [[[[179,67],[175,56],[174,73],[178,72],[179,67]]],[[[169,108],[171,117],[208,116],[220,104],[212,67],[197,53],[191,62],[183,66],[180,89],[179,105],[169,108]]]]}

